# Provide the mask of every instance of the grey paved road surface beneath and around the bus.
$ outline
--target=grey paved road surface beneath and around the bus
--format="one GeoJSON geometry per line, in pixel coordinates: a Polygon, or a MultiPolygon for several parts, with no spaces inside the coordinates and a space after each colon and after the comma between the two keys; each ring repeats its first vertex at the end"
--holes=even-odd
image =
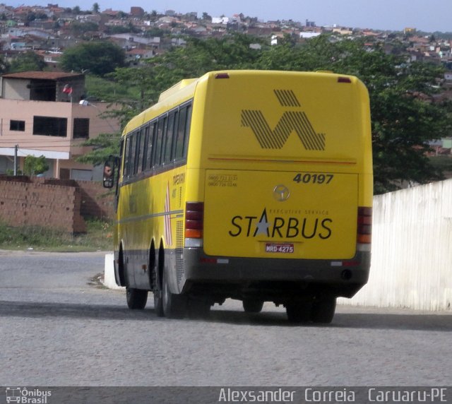
{"type": "Polygon", "coordinates": [[[452,314],[338,307],[294,326],[266,304],[206,320],[126,308],[104,253],[0,251],[0,386],[447,386],[452,314]]]}

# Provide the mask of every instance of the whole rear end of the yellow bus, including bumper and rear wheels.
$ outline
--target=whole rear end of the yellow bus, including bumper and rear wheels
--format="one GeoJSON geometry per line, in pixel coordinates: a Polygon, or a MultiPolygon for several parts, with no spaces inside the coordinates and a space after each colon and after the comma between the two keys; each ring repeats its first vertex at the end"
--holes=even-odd
{"type": "Polygon", "coordinates": [[[275,302],[291,321],[330,322],[336,297],[352,297],[369,275],[369,115],[352,76],[203,76],[180,291],[210,304],[241,299],[246,311],[275,302]]]}

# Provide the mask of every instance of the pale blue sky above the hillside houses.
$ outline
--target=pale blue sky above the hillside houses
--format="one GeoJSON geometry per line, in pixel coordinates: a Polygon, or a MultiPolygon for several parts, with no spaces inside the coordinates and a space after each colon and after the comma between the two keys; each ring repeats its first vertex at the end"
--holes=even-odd
{"type": "MultiPolygon", "coordinates": [[[[25,0],[27,5],[43,5],[49,0],[25,0]],[[37,3],[36,3],[37,1],[37,3]]],[[[177,13],[196,11],[210,16],[232,16],[243,13],[259,20],[305,20],[316,25],[342,25],[376,30],[417,30],[452,32],[451,0],[53,0],[62,7],[80,6],[90,10],[97,1],[100,10],[130,11],[141,6],[145,11],[174,10],[177,13]]],[[[6,4],[9,2],[6,0],[6,4]]],[[[11,4],[18,6],[19,4],[11,4]]]]}

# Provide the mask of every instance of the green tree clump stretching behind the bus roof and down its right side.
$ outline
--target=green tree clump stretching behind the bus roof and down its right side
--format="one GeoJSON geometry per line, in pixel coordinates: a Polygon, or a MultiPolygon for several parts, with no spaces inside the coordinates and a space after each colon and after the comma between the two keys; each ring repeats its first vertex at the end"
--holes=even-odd
{"type": "Polygon", "coordinates": [[[182,78],[224,69],[329,70],[357,76],[367,85],[371,102],[375,192],[397,189],[404,181],[441,179],[426,152],[429,141],[448,136],[451,129],[451,105],[434,102],[442,68],[408,63],[403,55],[386,54],[379,44],[369,47],[360,40],[321,35],[302,45],[286,40],[270,47],[240,34],[190,39],[186,47],[150,59],[147,66],[112,73],[117,83],[136,89],[132,99],[117,100],[117,117],[125,123],[182,78]],[[256,42],[261,44],[259,51],[250,47],[256,42]]]}

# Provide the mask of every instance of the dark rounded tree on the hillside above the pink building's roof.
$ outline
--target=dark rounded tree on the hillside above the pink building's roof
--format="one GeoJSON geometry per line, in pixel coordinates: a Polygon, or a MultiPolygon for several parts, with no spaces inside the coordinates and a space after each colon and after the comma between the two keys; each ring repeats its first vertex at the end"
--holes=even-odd
{"type": "Polygon", "coordinates": [[[124,66],[124,50],[112,42],[87,42],[66,49],[61,57],[64,71],[82,71],[105,76],[117,67],[124,66]]]}

